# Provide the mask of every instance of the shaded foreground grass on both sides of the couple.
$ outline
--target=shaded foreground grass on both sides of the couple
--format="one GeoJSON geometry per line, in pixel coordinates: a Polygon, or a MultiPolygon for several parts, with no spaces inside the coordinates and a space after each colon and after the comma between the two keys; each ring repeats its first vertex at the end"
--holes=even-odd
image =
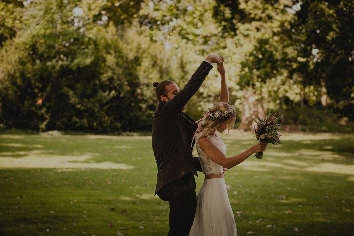
{"type": "MultiPolygon", "coordinates": [[[[168,203],[153,196],[155,170],[144,172],[144,165],[131,170],[2,170],[0,218],[6,220],[0,232],[44,234],[48,228],[56,235],[113,235],[126,227],[129,235],[166,235],[168,203]]],[[[197,192],[202,179],[196,178],[197,192]]],[[[225,181],[240,235],[298,235],[294,228],[303,235],[347,235],[354,230],[353,181],[347,175],[239,168],[228,170],[225,181]]]]}

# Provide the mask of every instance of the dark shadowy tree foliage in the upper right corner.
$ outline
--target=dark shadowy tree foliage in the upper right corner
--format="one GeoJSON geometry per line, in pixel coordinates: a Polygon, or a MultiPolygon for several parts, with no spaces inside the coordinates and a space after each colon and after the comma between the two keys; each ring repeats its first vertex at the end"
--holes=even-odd
{"type": "Polygon", "coordinates": [[[298,50],[295,71],[304,85],[324,86],[333,107],[354,120],[354,3],[295,1],[292,23],[298,50]]]}

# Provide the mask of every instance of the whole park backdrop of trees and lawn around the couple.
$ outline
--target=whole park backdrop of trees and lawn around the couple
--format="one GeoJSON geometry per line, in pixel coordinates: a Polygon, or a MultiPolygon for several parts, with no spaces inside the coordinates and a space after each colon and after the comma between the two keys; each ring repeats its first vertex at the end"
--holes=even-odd
{"type": "MultiPolygon", "coordinates": [[[[3,0],[1,235],[164,235],[152,84],[182,89],[209,54],[239,108],[229,156],[256,142],[252,117],[296,131],[228,170],[239,234],[353,234],[352,1],[3,0]]],[[[219,85],[214,68],[186,113],[219,85]]]]}

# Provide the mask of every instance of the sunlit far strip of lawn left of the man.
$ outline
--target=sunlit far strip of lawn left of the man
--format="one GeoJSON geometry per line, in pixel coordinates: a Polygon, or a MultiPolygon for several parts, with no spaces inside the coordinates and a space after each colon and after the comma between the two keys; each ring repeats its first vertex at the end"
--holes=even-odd
{"type": "Polygon", "coordinates": [[[147,153],[142,145],[151,149],[146,137],[8,136],[0,136],[0,166],[4,168],[131,169],[132,161],[147,153]]]}

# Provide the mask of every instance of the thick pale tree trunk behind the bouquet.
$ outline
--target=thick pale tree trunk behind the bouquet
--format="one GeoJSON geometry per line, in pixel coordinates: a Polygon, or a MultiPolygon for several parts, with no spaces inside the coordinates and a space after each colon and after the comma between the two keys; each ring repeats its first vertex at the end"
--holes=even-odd
{"type": "Polygon", "coordinates": [[[258,99],[258,96],[252,89],[244,89],[244,97],[242,101],[242,115],[239,130],[253,131],[256,122],[252,119],[265,118],[265,112],[262,106],[262,102],[258,99]]]}

